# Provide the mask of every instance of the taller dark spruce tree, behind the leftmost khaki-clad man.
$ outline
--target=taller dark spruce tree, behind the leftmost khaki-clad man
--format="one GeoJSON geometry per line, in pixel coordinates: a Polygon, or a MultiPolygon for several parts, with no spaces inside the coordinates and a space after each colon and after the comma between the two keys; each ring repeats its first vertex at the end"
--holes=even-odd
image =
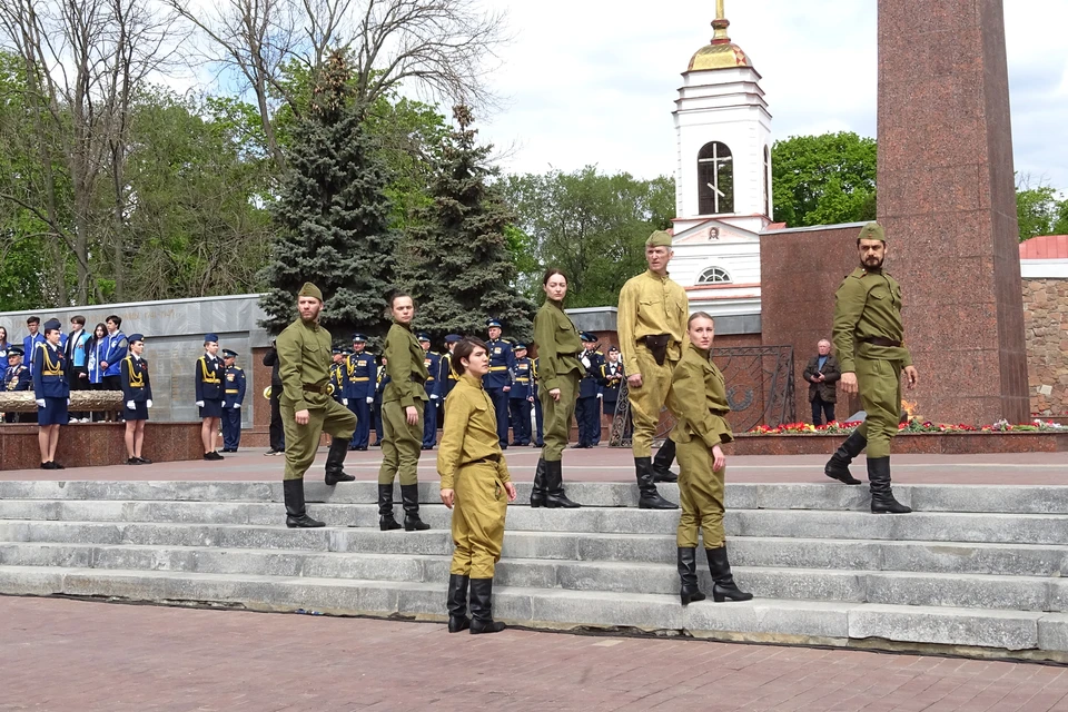
{"type": "Polygon", "coordinates": [[[299,121],[288,171],[273,206],[278,235],[261,278],[261,326],[277,334],[296,318],[305,281],[323,290],[322,323],[340,340],[354,330],[382,336],[393,286],[397,233],[389,225],[388,176],[355,106],[350,70],[334,53],[299,121]]]}

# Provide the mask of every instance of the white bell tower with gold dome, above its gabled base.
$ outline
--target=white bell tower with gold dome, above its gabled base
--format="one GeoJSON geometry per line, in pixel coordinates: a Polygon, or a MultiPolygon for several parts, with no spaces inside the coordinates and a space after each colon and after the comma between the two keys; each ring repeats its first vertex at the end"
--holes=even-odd
{"type": "Polygon", "coordinates": [[[723,6],[716,0],[712,41],[690,59],[675,101],[676,235],[709,218],[760,233],[772,218],[771,113],[723,6]]]}

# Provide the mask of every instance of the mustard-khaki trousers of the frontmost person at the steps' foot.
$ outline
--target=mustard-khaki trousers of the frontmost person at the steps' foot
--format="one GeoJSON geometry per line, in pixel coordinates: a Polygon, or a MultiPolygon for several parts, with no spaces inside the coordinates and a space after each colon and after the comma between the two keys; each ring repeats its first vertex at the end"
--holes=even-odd
{"type": "Polygon", "coordinates": [[[490,463],[466,465],[456,473],[453,504],[453,563],[448,572],[493,578],[504,544],[508,495],[490,463]]]}

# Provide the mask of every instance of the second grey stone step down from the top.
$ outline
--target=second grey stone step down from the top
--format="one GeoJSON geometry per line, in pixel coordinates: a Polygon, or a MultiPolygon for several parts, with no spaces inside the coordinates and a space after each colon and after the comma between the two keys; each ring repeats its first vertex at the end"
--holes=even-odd
{"type": "MultiPolygon", "coordinates": [[[[395,507],[399,516],[399,508],[395,507]]],[[[377,507],[372,504],[319,504],[313,516],[332,526],[375,527],[377,507]]],[[[423,520],[434,528],[448,528],[451,513],[444,505],[421,507],[423,520]]],[[[270,525],[283,521],[281,507],[256,502],[151,502],[151,501],[0,501],[0,521],[77,522],[190,522],[270,525]]],[[[678,511],[629,507],[546,510],[511,507],[507,528],[531,532],[589,532],[670,534],[678,511]]],[[[909,515],[873,515],[867,512],[828,510],[730,510],[724,517],[729,536],[784,538],[851,538],[945,541],[1017,544],[1060,544],[1068,531],[1064,514],[971,514],[916,512],[909,515]]]]}

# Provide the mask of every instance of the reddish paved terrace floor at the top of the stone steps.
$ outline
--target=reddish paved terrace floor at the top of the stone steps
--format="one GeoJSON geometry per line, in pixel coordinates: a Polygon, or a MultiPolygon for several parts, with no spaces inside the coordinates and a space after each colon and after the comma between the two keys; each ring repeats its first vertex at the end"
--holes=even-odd
{"type": "MultiPolygon", "coordinates": [[[[537,449],[510,448],[505,454],[517,481],[534,478],[537,449]]],[[[264,457],[264,449],[241,451],[219,463],[204,461],[161,463],[151,466],[118,465],[78,467],[63,471],[13,469],[0,472],[0,479],[249,479],[280,481],[283,457],[264,457]]],[[[424,452],[419,476],[436,479],[437,451],[424,452]]],[[[313,473],[322,473],[326,449],[313,473]]],[[[823,476],[824,455],[750,455],[729,458],[728,482],[817,482],[823,476]]],[[[359,479],[375,479],[382,453],[377,448],[348,454],[346,468],[359,479]]],[[[863,458],[854,465],[863,478],[863,458]]],[[[597,447],[568,449],[564,454],[564,479],[632,482],[634,461],[629,449],[597,447]]],[[[312,476],[309,474],[309,476],[312,476]]],[[[315,476],[318,476],[316,474],[315,476]]],[[[990,455],[899,455],[893,458],[893,479],[916,484],[1068,484],[1068,456],[1065,453],[1025,453],[990,455]]]]}

